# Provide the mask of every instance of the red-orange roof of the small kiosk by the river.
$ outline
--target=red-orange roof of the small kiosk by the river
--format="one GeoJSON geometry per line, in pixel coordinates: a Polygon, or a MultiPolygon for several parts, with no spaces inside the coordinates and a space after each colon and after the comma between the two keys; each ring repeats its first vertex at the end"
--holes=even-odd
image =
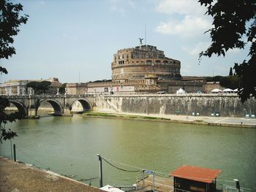
{"type": "Polygon", "coordinates": [[[199,166],[184,165],[178,167],[170,175],[173,177],[180,177],[187,180],[195,180],[203,183],[212,183],[212,181],[221,173],[219,169],[208,169],[199,166]]]}

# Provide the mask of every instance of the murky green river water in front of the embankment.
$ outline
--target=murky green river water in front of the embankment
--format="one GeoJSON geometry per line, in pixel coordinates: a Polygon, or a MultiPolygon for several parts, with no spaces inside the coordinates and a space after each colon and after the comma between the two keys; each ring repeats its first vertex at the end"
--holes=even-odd
{"type": "MultiPolygon", "coordinates": [[[[97,153],[122,168],[129,164],[169,174],[189,164],[221,169],[217,183],[233,184],[256,191],[256,129],[200,126],[88,117],[45,117],[19,120],[8,128],[18,132],[19,161],[72,174],[99,186],[97,153]],[[121,162],[123,164],[118,164],[121,162]]],[[[0,144],[0,155],[11,157],[10,141],[0,144]]],[[[139,172],[123,172],[105,161],[103,184],[132,185],[139,172]]],[[[220,186],[220,185],[219,185],[220,186]]]]}

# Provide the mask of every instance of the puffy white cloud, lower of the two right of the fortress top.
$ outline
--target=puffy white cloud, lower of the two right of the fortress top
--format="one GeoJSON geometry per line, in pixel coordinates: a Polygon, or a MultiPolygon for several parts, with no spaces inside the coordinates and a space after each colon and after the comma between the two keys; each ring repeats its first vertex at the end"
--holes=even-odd
{"type": "Polygon", "coordinates": [[[211,28],[211,23],[203,18],[187,15],[183,20],[170,20],[169,22],[161,22],[156,28],[160,34],[178,34],[183,37],[195,37],[203,34],[211,28]]]}

